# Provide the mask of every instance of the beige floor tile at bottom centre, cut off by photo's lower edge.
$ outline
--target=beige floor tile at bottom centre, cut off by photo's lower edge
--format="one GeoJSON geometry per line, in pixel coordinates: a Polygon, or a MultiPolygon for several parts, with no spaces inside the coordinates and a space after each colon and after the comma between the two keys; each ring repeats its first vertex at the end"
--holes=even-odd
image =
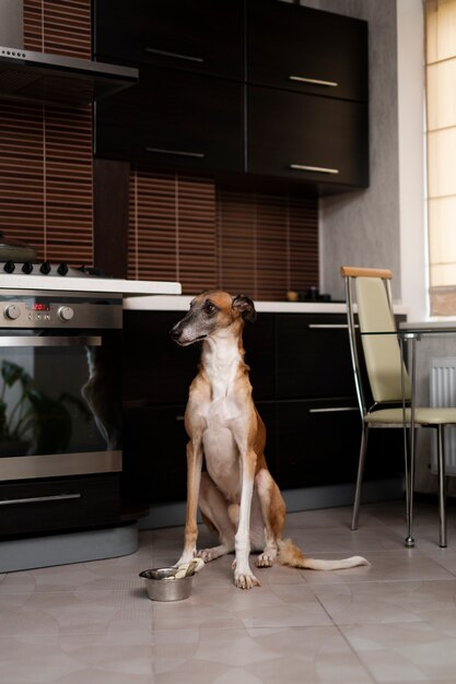
{"type": "Polygon", "coordinates": [[[160,684],[217,682],[371,684],[374,680],[335,627],[221,629],[157,634],[160,684]]]}

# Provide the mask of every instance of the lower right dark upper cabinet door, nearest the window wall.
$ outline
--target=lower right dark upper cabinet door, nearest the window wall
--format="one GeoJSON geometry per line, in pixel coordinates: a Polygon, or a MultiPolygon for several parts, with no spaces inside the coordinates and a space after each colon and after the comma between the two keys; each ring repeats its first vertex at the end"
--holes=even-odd
{"type": "Polygon", "coordinates": [[[367,186],[367,106],[248,85],[247,172],[367,186]]]}

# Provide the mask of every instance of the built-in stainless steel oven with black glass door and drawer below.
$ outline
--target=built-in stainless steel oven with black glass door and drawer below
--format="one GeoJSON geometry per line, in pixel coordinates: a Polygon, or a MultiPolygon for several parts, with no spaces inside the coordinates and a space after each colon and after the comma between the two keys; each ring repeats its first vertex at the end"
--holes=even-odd
{"type": "MultiPolygon", "coordinates": [[[[84,482],[118,498],[93,476],[121,471],[121,325],[120,295],[0,291],[0,534],[16,531],[20,506],[83,505],[84,482]]],[[[66,527],[55,521],[45,529],[66,527]]]]}

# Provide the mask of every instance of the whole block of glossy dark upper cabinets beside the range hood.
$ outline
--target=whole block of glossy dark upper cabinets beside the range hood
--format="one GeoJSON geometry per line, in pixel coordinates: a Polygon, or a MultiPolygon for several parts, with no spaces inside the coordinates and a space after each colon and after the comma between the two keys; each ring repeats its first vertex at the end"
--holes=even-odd
{"type": "Polygon", "coordinates": [[[95,56],[139,85],[95,155],[314,193],[369,185],[367,24],[281,0],[94,0],[95,56]]]}

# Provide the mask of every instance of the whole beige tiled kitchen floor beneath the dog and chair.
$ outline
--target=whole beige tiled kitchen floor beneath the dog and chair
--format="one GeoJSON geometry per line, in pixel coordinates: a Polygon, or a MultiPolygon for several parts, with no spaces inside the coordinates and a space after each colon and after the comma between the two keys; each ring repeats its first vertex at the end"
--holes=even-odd
{"type": "MultiPolygon", "coordinates": [[[[0,576],[1,684],[418,684],[456,681],[456,512],[439,549],[436,505],[417,504],[406,550],[404,506],[292,514],[308,555],[362,554],[371,567],[258,570],[232,582],[232,557],[208,564],[190,599],[150,601],[138,573],[174,563],[183,530],[141,533],[117,559],[0,576]]],[[[209,542],[201,532],[201,542],[209,542]]]]}

